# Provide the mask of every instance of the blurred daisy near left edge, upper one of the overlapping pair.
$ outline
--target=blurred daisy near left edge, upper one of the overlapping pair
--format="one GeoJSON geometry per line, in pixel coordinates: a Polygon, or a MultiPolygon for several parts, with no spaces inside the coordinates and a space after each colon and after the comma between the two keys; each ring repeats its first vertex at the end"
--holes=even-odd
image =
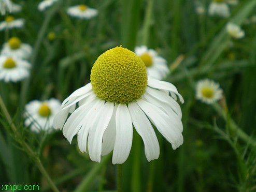
{"type": "Polygon", "coordinates": [[[1,54],[7,56],[16,56],[21,58],[29,58],[32,53],[32,47],[27,43],[22,43],[18,37],[11,37],[8,42],[4,43],[1,54]]]}

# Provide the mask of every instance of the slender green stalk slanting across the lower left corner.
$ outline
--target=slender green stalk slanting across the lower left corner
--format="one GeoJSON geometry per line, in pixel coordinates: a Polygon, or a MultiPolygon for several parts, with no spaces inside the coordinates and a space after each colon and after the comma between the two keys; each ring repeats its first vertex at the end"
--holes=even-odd
{"type": "Polygon", "coordinates": [[[45,170],[44,166],[41,163],[41,160],[39,159],[39,157],[37,156],[37,154],[31,149],[31,147],[24,141],[22,140],[22,136],[20,135],[18,129],[16,128],[15,124],[13,124],[11,116],[8,112],[8,110],[5,107],[4,101],[0,95],[0,107],[3,111],[3,114],[6,117],[7,122],[9,123],[11,130],[13,131],[14,139],[20,143],[20,145],[23,147],[23,150],[31,157],[31,159],[35,162],[36,166],[38,167],[38,169],[40,170],[41,174],[45,177],[45,179],[47,180],[47,182],[49,183],[51,189],[54,192],[58,192],[58,188],[54,185],[54,183],[52,182],[50,176],[48,175],[47,171],[45,170]]]}

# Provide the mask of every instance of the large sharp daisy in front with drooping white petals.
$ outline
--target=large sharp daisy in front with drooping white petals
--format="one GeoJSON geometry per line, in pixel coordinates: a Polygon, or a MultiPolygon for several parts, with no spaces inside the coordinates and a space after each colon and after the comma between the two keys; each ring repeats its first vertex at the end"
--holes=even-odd
{"type": "Polygon", "coordinates": [[[122,164],[130,154],[134,126],[150,161],[160,154],[151,123],[174,150],[183,143],[178,99],[184,102],[173,84],[147,77],[139,56],[116,47],[97,58],[91,83],[63,101],[53,127],[62,129],[70,143],[77,134],[79,149],[87,152],[88,146],[93,161],[113,151],[112,163],[122,164]]]}

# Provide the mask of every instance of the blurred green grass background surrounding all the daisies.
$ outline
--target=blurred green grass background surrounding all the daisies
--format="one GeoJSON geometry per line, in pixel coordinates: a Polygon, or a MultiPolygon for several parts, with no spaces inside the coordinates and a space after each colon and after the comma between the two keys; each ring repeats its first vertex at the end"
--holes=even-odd
{"type": "Polygon", "coordinates": [[[1,113],[2,185],[35,184],[40,191],[51,191],[36,157],[60,191],[116,190],[117,166],[111,164],[111,155],[103,157],[101,164],[94,163],[88,154],[80,153],[76,138],[69,144],[61,131],[35,135],[23,127],[23,108],[34,99],[63,101],[90,81],[90,70],[104,51],[147,45],[167,60],[172,71],[165,80],[184,97],[184,143],[174,151],[156,131],[160,157],[148,163],[143,142],[134,131],[132,150],[123,164],[123,190],[256,191],[256,24],[245,24],[256,13],[255,0],[230,6],[227,19],[208,16],[210,1],[206,0],[201,0],[206,9],[201,15],[192,0],[67,0],[45,12],[37,10],[39,2],[16,1],[23,9],[15,16],[26,20],[25,27],[0,32],[1,44],[17,36],[34,47],[31,77],[19,83],[0,82],[0,94],[20,134],[17,137],[1,113]],[[98,16],[70,18],[66,9],[77,4],[98,9],[98,16]],[[231,38],[225,31],[227,22],[241,25],[246,37],[231,38]],[[53,41],[47,39],[50,32],[56,34],[53,41]],[[223,88],[225,99],[219,104],[195,100],[195,83],[205,78],[223,88]],[[238,127],[246,139],[240,137],[238,127]],[[29,144],[34,156],[24,152],[21,141],[29,144]]]}

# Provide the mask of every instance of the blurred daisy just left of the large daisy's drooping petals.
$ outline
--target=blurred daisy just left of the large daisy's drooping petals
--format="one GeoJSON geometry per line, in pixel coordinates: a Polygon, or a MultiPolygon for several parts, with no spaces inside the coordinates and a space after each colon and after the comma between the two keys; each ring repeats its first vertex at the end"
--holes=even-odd
{"type": "Polygon", "coordinates": [[[58,99],[51,98],[45,101],[33,100],[25,106],[25,126],[30,126],[34,132],[52,131],[52,122],[61,108],[58,99]]]}

